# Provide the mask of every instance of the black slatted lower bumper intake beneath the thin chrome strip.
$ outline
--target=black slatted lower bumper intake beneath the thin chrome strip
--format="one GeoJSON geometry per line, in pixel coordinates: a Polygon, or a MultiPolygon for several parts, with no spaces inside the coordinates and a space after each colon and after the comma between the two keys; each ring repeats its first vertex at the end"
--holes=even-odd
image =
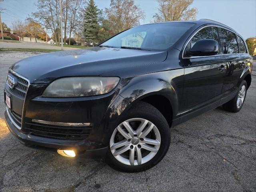
{"type": "Polygon", "coordinates": [[[45,138],[61,139],[61,140],[82,140],[86,139],[91,130],[90,126],[53,126],[48,124],[40,124],[35,122],[26,122],[25,132],[34,136],[45,138]]]}

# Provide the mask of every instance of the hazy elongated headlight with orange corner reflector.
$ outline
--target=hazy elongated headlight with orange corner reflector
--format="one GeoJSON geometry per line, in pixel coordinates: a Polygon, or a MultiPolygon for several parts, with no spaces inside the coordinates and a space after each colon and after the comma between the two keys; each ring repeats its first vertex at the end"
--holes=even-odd
{"type": "Polygon", "coordinates": [[[119,77],[66,77],[52,82],[43,92],[44,97],[82,97],[110,92],[119,77]]]}

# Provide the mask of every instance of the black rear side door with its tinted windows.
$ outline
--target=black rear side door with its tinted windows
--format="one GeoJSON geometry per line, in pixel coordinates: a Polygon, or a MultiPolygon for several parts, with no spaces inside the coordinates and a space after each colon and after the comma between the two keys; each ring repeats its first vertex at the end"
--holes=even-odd
{"type": "Polygon", "coordinates": [[[239,36],[224,28],[219,28],[219,34],[222,54],[224,55],[223,60],[226,66],[221,101],[221,104],[224,104],[236,94],[246,64],[247,54],[244,42],[239,36]]]}

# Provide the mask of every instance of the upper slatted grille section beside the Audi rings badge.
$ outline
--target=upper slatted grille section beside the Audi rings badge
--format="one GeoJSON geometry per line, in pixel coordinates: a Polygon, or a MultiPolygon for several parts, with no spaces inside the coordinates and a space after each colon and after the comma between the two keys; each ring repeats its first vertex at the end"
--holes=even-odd
{"type": "MultiPolygon", "coordinates": [[[[28,90],[28,81],[24,78],[17,76],[16,74],[12,72],[8,72],[8,75],[14,76],[17,80],[17,84],[14,86],[14,88],[10,89],[10,91],[18,96],[21,96],[22,98],[25,98],[27,90],[28,90]]],[[[6,79],[7,82],[7,79],[6,79]]]]}

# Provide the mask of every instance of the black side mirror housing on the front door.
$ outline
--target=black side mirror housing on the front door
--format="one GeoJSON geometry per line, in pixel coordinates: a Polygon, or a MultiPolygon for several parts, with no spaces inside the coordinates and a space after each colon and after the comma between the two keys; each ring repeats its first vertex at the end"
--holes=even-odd
{"type": "Polygon", "coordinates": [[[187,56],[211,56],[218,54],[219,46],[216,40],[201,39],[185,52],[187,56]]]}

